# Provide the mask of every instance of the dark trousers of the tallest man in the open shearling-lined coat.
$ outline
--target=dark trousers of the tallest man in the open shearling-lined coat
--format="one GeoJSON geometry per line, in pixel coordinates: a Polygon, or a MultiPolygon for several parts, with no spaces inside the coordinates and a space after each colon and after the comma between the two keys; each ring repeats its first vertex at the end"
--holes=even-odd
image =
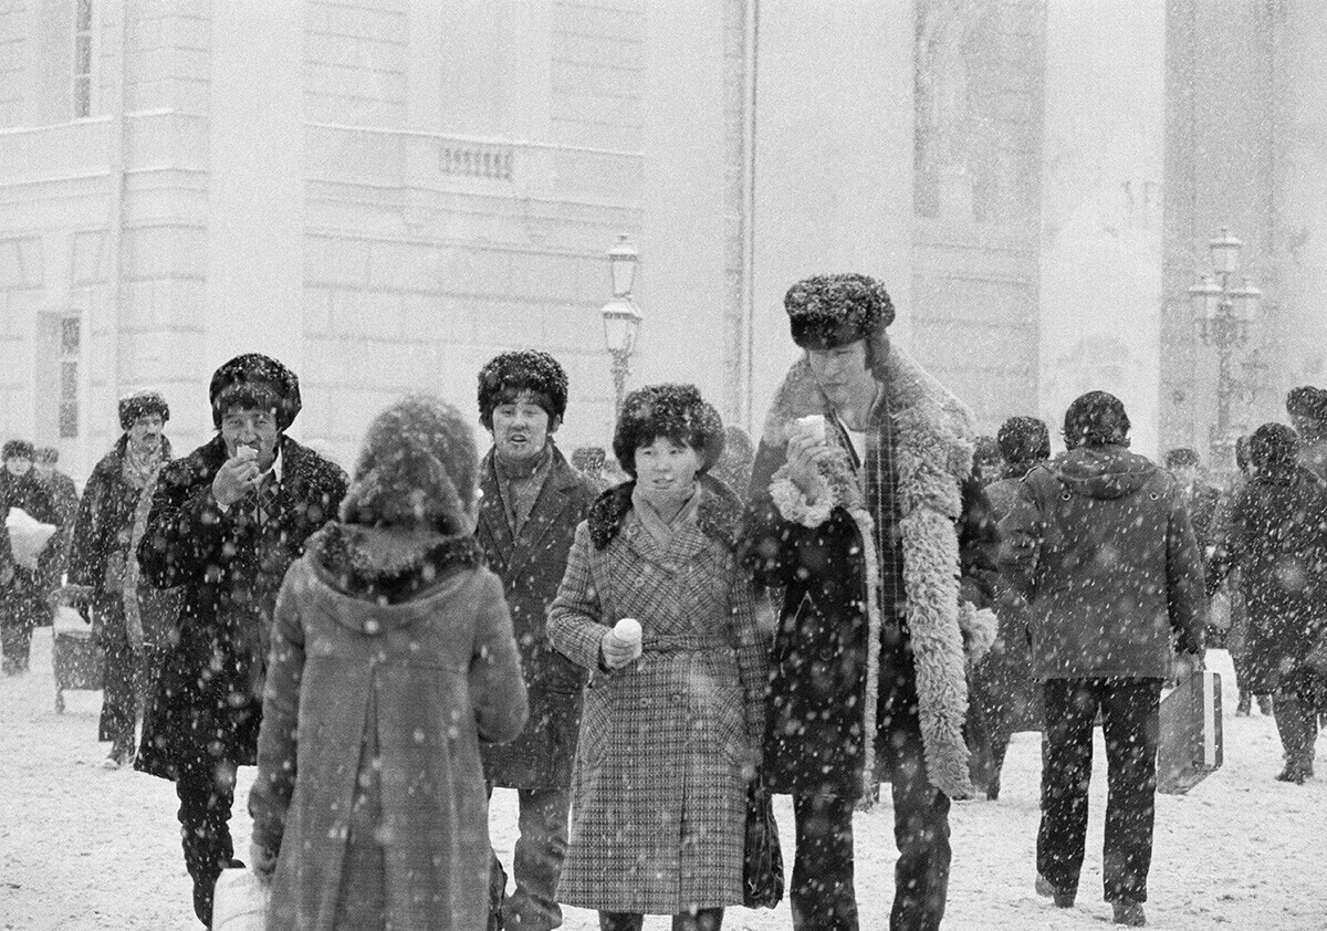
{"type": "MultiPolygon", "coordinates": [[[[882,664],[885,666],[885,664],[882,664]]],[[[926,780],[912,663],[881,670],[894,682],[882,703],[885,763],[894,804],[894,904],[892,931],[934,931],[949,893],[949,798],[926,780]],[[890,675],[892,674],[892,675],[890,675]]],[[[852,810],[857,798],[794,793],[798,849],[788,899],[796,931],[857,931],[853,894],[852,810]]]]}

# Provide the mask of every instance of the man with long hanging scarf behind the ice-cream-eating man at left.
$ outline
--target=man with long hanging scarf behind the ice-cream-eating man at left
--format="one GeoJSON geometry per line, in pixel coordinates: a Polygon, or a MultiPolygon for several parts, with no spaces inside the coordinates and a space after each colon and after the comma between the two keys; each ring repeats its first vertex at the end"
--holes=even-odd
{"type": "Polygon", "coordinates": [[[88,602],[106,658],[97,739],[110,741],[109,769],[134,759],[138,708],[155,694],[179,621],[180,591],[158,590],[138,570],[157,477],[170,462],[169,419],[155,391],[119,399],[123,434],[93,468],[74,521],[66,591],[88,602]]]}

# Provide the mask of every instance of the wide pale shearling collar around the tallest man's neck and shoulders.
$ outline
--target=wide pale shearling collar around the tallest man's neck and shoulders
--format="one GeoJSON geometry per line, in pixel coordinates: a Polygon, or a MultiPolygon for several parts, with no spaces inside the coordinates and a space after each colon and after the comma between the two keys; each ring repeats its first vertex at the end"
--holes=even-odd
{"type": "MultiPolygon", "coordinates": [[[[880,371],[889,415],[901,427],[898,436],[901,442],[914,446],[905,452],[928,460],[938,454],[945,471],[955,481],[963,481],[971,472],[975,435],[967,406],[898,346],[890,345],[880,371]]],[[[764,422],[764,442],[783,447],[794,420],[827,412],[829,399],[816,385],[811,363],[803,355],[788,369],[774,397],[764,422]]]]}

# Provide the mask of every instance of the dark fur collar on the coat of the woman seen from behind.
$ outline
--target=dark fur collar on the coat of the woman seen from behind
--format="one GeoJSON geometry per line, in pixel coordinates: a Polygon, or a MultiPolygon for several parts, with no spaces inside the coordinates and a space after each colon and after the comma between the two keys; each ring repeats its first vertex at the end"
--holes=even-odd
{"type": "Polygon", "coordinates": [[[313,534],[308,550],[337,589],[385,603],[409,601],[455,569],[484,564],[472,534],[443,536],[338,523],[313,534]]]}

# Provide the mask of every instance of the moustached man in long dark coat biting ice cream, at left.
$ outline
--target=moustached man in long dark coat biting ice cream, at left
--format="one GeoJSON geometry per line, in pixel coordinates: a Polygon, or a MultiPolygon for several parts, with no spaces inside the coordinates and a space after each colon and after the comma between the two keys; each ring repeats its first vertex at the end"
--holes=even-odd
{"type": "Polygon", "coordinates": [[[175,781],[194,911],[232,865],[235,768],[253,765],[267,638],[281,578],[334,517],[341,468],[285,431],[300,383],[276,359],[238,355],[212,375],[216,436],[166,466],[138,561],[149,585],[183,586],[178,643],[143,723],[134,767],[175,781]]]}

